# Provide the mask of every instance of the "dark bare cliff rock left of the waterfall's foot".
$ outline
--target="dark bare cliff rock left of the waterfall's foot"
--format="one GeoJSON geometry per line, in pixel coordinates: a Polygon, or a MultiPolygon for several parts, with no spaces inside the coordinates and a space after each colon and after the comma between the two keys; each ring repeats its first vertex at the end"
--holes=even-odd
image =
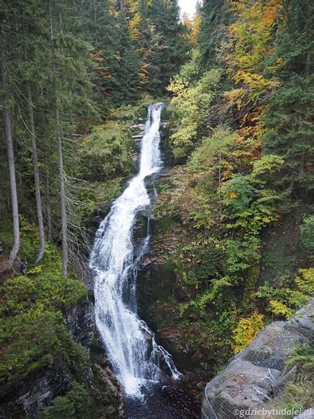
{"type": "Polygon", "coordinates": [[[61,358],[52,365],[27,374],[23,379],[8,381],[1,388],[0,418],[20,419],[40,417],[40,412],[58,396],[71,389],[73,380],[87,389],[89,409],[97,418],[123,416],[123,399],[119,383],[110,371],[95,334],[94,306],[83,298],[63,313],[72,339],[87,349],[87,362],[83,373],[79,367],[69,367],[61,358]],[[90,351],[89,348],[92,348],[90,351]]]}

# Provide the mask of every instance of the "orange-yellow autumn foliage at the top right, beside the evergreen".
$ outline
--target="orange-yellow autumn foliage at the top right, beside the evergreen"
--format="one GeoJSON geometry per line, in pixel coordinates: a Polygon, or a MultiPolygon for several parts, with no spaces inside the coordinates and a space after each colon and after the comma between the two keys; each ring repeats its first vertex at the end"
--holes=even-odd
{"type": "Polygon", "coordinates": [[[283,60],[278,59],[276,65],[267,68],[274,76],[266,77],[264,69],[265,58],[274,54],[274,25],[281,8],[283,0],[233,3],[237,20],[228,27],[230,52],[225,62],[235,89],[227,91],[225,97],[229,105],[235,105],[242,112],[239,134],[244,138],[257,138],[264,133],[260,122],[264,108],[260,102],[280,85],[275,74],[284,64],[283,60]]]}

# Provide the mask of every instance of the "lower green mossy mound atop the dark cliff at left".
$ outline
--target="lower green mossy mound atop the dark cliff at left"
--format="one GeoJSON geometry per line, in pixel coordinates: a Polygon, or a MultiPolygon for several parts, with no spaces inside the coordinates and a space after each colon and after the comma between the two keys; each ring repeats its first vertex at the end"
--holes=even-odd
{"type": "Polygon", "coordinates": [[[1,321],[0,383],[52,365],[56,357],[77,369],[84,365],[86,352],[70,337],[60,312],[33,307],[1,321]]]}

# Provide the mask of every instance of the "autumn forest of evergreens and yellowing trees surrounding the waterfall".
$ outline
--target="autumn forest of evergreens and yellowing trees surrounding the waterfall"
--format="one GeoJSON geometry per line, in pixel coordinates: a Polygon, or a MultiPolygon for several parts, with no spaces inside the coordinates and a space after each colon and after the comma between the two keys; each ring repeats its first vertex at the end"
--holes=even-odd
{"type": "MultiPolygon", "coordinates": [[[[96,224],[137,173],[153,103],[165,168],[138,299],[184,390],[202,399],[313,303],[313,32],[311,0],[203,0],[192,17],[177,0],[0,0],[0,418],[124,417],[101,339],[68,318],[94,304],[96,224]],[[38,402],[22,389],[48,371],[38,402]]],[[[313,348],[287,355],[281,406],[313,406],[313,348]]]]}

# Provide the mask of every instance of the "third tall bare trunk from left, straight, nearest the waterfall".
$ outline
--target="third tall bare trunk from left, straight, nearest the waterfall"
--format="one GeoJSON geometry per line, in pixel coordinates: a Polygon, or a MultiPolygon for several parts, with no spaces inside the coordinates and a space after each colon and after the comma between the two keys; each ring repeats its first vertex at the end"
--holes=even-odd
{"type": "MultiPolygon", "coordinates": [[[[56,73],[56,63],[54,59],[54,46],[53,46],[53,24],[52,24],[52,5],[49,0],[49,20],[50,20],[50,41],[52,42],[52,71],[56,73]]],[[[61,121],[59,113],[59,101],[57,86],[55,85],[55,110],[56,110],[56,126],[57,126],[57,144],[58,144],[58,159],[59,159],[59,189],[60,189],[60,202],[61,202],[61,237],[62,237],[62,274],[66,277],[68,273],[68,220],[66,216],[66,195],[64,188],[64,170],[63,170],[63,153],[62,153],[62,135],[61,135],[61,121]]]]}

